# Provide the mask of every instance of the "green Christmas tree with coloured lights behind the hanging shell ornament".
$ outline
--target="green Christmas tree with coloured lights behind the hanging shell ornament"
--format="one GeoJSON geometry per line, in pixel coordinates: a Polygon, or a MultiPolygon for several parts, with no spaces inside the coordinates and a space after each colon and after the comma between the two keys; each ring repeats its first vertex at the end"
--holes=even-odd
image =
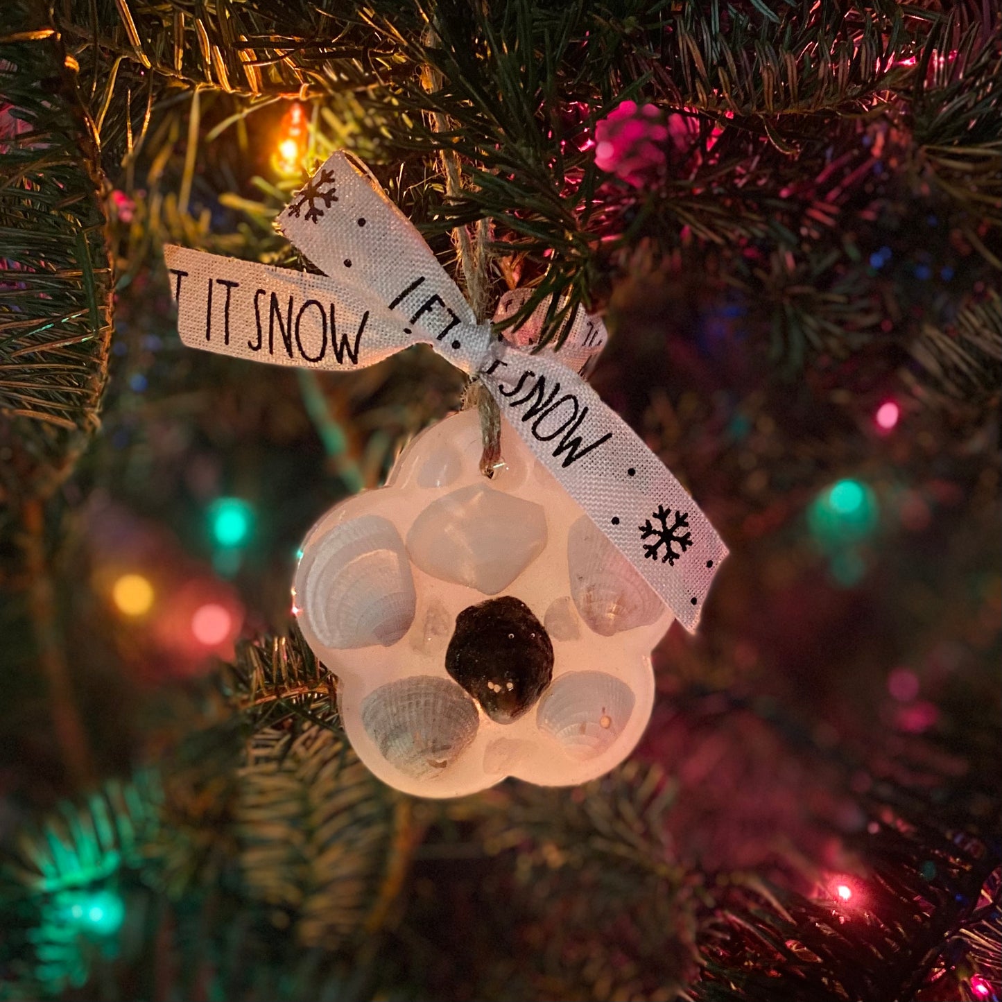
{"type": "Polygon", "coordinates": [[[1000,22],[6,0],[0,997],[998,998],[1000,22]],[[191,352],[162,247],[313,270],[340,149],[479,319],[604,317],[731,551],[600,780],[397,793],[290,614],[467,381],[191,352]]]}

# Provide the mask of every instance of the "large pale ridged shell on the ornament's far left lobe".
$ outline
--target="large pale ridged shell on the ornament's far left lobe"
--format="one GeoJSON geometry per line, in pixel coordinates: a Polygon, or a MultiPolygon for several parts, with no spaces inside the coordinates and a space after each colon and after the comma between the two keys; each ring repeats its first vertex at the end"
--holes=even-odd
{"type": "Polygon", "coordinates": [[[297,601],[328,647],[396,643],[414,620],[415,592],[394,524],[363,515],[331,529],[316,544],[297,601]]]}

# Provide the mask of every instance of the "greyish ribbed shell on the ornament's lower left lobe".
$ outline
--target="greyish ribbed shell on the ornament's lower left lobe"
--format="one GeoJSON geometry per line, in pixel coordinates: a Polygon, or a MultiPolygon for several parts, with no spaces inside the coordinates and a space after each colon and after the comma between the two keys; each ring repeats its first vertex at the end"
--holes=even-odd
{"type": "Polygon", "coordinates": [[[477,707],[455,683],[412,675],[362,701],[362,725],[383,757],[415,780],[439,776],[473,741],[477,707]]]}

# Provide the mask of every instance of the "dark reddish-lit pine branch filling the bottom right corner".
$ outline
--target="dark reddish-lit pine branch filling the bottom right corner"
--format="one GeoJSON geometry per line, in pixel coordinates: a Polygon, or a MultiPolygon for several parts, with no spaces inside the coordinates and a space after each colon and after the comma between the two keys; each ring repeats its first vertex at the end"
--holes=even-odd
{"type": "Polygon", "coordinates": [[[975,972],[998,925],[998,737],[982,719],[890,761],[891,774],[866,798],[871,822],[855,840],[865,874],[848,903],[833,888],[827,902],[778,888],[720,902],[703,936],[695,998],[905,1002],[931,985],[933,997],[958,997],[957,982],[975,972]]]}

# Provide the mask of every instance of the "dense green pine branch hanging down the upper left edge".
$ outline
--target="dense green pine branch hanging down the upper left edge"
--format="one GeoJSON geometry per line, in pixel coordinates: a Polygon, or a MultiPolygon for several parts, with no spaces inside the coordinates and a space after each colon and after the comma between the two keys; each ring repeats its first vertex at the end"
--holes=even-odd
{"type": "Polygon", "coordinates": [[[98,427],[111,262],[94,122],[61,36],[30,0],[0,37],[0,501],[44,498],[98,427]],[[10,133],[10,134],[7,134],[10,133]]]}

